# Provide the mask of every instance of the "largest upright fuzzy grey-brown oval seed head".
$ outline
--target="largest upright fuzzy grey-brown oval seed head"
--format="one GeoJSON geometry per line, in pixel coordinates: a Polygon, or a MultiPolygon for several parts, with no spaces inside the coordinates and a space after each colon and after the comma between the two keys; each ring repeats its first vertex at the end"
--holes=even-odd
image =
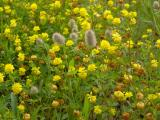
{"type": "Polygon", "coordinates": [[[96,47],[97,40],[96,40],[96,35],[95,35],[93,30],[86,31],[86,33],[85,33],[85,43],[88,46],[96,47]]]}

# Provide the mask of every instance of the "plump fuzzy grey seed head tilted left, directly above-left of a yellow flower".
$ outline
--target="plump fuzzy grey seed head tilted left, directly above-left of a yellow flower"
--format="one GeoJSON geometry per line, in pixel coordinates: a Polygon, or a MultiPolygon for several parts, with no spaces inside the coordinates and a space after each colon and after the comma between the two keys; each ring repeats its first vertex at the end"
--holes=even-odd
{"type": "Polygon", "coordinates": [[[65,38],[63,35],[61,35],[60,33],[54,33],[52,35],[52,39],[53,39],[53,42],[57,43],[57,44],[65,44],[65,38]]]}

